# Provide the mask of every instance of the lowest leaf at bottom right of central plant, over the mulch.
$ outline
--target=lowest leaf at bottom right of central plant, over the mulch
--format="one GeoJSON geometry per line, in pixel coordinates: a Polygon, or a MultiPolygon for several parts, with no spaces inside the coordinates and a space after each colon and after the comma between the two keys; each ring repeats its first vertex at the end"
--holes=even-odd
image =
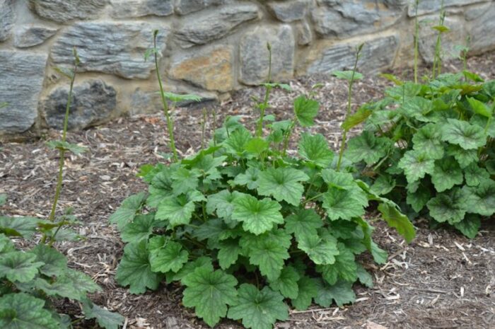
{"type": "Polygon", "coordinates": [[[339,281],[329,286],[319,280],[317,281],[317,289],[318,296],[316,296],[315,302],[322,307],[329,307],[332,305],[332,301],[335,301],[337,306],[342,307],[344,304],[353,303],[356,300],[351,282],[339,281]]]}

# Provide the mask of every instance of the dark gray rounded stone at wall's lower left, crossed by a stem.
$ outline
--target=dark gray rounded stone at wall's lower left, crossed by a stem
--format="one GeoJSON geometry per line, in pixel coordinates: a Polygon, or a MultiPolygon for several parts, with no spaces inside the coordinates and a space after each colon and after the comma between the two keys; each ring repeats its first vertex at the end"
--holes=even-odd
{"type": "MultiPolygon", "coordinates": [[[[69,87],[52,91],[40,102],[47,124],[63,129],[69,87]]],[[[85,81],[74,87],[69,115],[69,129],[84,129],[105,122],[117,109],[117,92],[101,80],[85,81]]]]}

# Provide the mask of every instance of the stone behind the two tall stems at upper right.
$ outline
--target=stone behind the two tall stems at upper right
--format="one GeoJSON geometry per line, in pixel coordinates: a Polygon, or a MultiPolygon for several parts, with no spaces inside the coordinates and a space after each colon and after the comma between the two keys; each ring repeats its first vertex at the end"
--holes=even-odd
{"type": "MultiPolygon", "coordinates": [[[[425,21],[430,21],[428,25],[422,25],[419,33],[419,54],[426,63],[433,63],[435,58],[435,46],[438,31],[433,30],[431,26],[437,24],[436,16],[426,16],[425,21]]],[[[464,23],[458,18],[445,17],[445,26],[450,28],[450,31],[442,34],[441,50],[443,59],[451,59],[457,57],[455,54],[455,45],[464,45],[466,43],[467,33],[464,28],[464,23]]]]}

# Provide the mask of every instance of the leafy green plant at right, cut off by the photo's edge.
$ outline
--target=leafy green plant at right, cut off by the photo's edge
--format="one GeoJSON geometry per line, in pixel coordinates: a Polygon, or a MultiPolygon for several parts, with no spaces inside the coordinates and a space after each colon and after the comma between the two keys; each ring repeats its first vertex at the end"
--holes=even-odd
{"type": "Polygon", "coordinates": [[[373,192],[411,218],[473,238],[495,212],[495,81],[463,71],[426,84],[397,81],[385,95],[358,111],[368,116],[345,155],[373,192]]]}

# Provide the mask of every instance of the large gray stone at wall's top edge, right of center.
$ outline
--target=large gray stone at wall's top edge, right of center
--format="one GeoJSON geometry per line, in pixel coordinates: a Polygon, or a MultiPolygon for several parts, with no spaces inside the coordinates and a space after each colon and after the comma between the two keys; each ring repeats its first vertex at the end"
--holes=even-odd
{"type": "Polygon", "coordinates": [[[402,16],[402,2],[391,0],[318,0],[311,16],[323,36],[349,37],[373,33],[395,24],[402,16]]]}

